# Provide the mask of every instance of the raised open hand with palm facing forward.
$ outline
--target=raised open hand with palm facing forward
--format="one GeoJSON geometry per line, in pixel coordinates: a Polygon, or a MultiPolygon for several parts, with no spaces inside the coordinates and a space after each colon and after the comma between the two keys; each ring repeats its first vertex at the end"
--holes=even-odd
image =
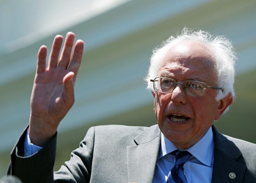
{"type": "Polygon", "coordinates": [[[67,33],[59,59],[62,41],[62,36],[55,36],[47,68],[46,46],[41,46],[38,51],[28,129],[31,142],[38,146],[44,146],[54,136],[60,121],[75,101],[74,84],[81,64],[84,42],[76,41],[70,61],[75,34],[67,33]]]}

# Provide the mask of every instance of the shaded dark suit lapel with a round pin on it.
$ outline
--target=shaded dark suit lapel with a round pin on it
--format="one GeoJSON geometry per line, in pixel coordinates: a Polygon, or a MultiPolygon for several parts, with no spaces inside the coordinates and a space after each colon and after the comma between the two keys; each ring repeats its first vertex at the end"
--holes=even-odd
{"type": "Polygon", "coordinates": [[[246,166],[237,162],[242,156],[236,145],[212,126],[214,137],[214,163],[212,183],[217,182],[243,182],[246,166]],[[230,173],[235,173],[236,178],[231,179],[230,173]]]}

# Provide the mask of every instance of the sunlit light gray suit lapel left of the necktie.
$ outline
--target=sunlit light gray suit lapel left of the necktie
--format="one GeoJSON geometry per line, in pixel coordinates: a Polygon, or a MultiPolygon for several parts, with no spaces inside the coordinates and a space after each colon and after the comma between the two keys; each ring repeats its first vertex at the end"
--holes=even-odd
{"type": "Polygon", "coordinates": [[[161,132],[157,125],[134,138],[134,145],[127,146],[129,182],[153,182],[161,132]]]}

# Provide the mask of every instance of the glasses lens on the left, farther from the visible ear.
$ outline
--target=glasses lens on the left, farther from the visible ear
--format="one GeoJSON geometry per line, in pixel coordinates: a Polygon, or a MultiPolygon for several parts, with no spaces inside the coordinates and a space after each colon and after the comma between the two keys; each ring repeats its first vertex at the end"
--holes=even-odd
{"type": "Polygon", "coordinates": [[[171,93],[175,87],[175,80],[167,77],[157,77],[154,82],[154,89],[157,92],[171,93]]]}

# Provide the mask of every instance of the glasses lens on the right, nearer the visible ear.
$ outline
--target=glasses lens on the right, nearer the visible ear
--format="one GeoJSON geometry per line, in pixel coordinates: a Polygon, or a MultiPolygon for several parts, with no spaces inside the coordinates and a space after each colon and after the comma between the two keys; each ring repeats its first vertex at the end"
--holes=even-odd
{"type": "Polygon", "coordinates": [[[184,91],[189,96],[204,96],[206,93],[206,84],[199,81],[185,81],[184,91]]]}

